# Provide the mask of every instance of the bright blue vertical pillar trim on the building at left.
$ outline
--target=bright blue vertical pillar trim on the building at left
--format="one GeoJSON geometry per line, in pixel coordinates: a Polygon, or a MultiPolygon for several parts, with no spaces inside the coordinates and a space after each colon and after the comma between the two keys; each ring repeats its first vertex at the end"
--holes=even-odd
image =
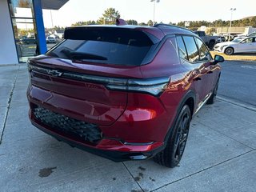
{"type": "Polygon", "coordinates": [[[42,18],[42,4],[41,0],[33,0],[34,6],[34,20],[36,23],[36,31],[38,35],[38,48],[40,54],[45,54],[47,51],[46,46],[46,33],[45,33],[45,26],[43,24],[42,18]]]}

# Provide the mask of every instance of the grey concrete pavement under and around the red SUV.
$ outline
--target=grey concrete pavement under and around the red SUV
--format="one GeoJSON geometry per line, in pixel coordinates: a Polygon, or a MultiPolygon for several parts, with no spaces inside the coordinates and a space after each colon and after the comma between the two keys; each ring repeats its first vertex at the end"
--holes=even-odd
{"type": "Polygon", "coordinates": [[[115,163],[30,124],[26,65],[0,66],[0,191],[255,191],[256,111],[218,99],[191,122],[180,166],[115,163]]]}

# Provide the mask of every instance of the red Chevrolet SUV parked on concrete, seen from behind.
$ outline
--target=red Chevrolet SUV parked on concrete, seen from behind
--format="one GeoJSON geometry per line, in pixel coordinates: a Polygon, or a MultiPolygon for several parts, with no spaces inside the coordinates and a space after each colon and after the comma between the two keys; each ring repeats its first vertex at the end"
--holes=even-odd
{"type": "Polygon", "coordinates": [[[190,120],[213,103],[222,56],[178,26],[78,26],[30,59],[30,120],[70,146],[115,162],[174,167],[190,120]]]}

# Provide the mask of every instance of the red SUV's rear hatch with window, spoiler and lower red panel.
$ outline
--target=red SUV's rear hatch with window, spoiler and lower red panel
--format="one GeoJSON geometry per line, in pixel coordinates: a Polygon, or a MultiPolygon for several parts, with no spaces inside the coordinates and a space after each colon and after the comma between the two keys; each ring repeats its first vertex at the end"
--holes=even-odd
{"type": "Polygon", "coordinates": [[[30,60],[29,98],[68,117],[111,125],[126,109],[127,82],[142,78],[139,66],[159,40],[141,30],[88,26],[69,28],[64,38],[30,60]]]}

